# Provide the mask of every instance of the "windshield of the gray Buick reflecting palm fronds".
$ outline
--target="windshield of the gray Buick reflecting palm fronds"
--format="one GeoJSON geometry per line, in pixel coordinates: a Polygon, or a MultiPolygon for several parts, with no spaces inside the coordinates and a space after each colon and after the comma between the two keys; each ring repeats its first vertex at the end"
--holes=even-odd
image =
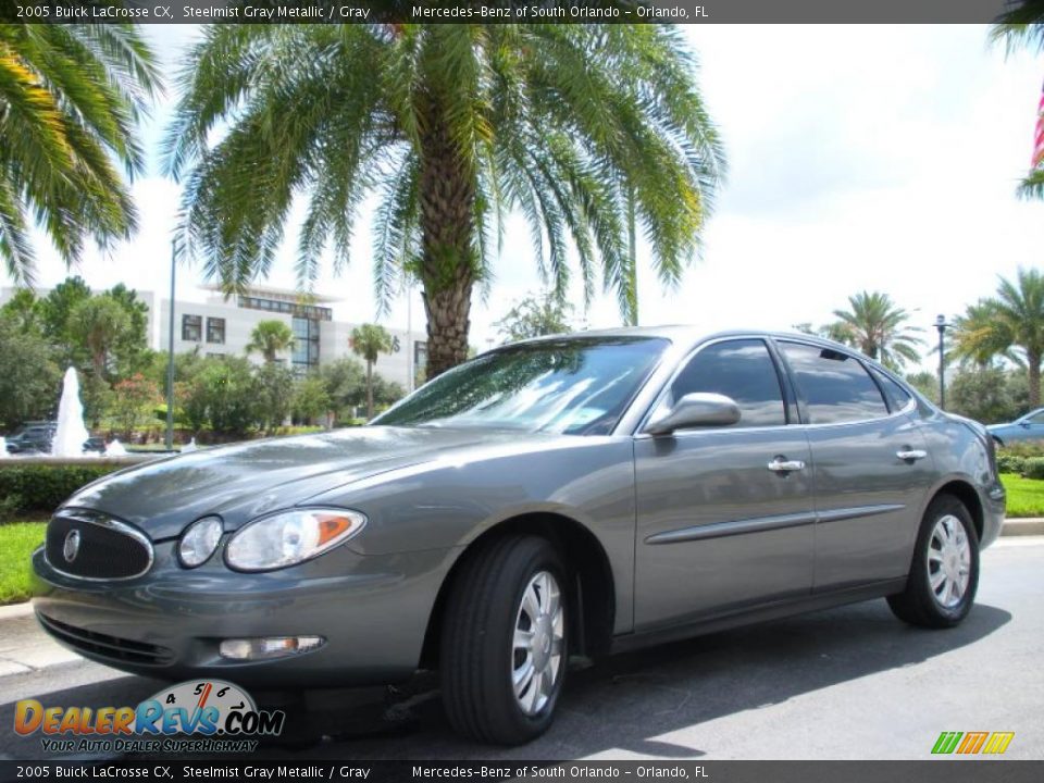
{"type": "Polygon", "coordinates": [[[508,346],[444,373],[373,423],[607,434],[667,346],[652,337],[508,346]]]}

